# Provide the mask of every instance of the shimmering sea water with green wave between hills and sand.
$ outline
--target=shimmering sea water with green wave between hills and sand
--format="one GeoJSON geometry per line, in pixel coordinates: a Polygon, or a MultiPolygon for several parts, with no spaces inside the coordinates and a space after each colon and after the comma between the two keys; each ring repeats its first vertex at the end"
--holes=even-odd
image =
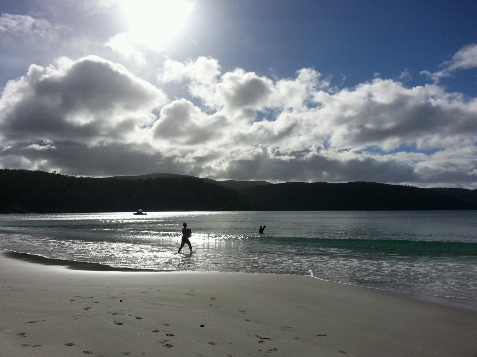
{"type": "Polygon", "coordinates": [[[311,270],[364,287],[477,297],[477,211],[0,215],[0,248],[119,268],[311,270]],[[177,254],[183,222],[193,254],[187,245],[177,254]]]}

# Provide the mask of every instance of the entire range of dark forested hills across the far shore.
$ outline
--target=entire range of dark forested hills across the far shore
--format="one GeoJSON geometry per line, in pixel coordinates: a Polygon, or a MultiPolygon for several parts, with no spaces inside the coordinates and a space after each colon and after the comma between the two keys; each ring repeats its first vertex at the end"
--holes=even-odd
{"type": "Polygon", "coordinates": [[[0,213],[477,209],[477,190],[373,182],[254,185],[234,190],[187,176],[85,178],[0,169],[0,213]]]}

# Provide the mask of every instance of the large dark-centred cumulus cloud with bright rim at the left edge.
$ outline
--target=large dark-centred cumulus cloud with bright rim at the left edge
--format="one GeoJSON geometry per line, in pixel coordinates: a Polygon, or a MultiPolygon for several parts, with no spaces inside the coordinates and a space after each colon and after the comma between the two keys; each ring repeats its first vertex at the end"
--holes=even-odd
{"type": "Polygon", "coordinates": [[[123,66],[96,56],[59,59],[10,81],[0,99],[4,142],[66,140],[93,143],[134,140],[152,125],[151,110],[166,95],[123,66]]]}

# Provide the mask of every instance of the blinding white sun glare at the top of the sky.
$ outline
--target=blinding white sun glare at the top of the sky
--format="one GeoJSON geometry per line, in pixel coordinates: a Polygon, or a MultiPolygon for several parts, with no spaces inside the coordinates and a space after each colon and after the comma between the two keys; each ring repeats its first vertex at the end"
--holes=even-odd
{"type": "Polygon", "coordinates": [[[187,0],[122,0],[131,36],[149,47],[160,48],[182,28],[192,11],[187,0]]]}

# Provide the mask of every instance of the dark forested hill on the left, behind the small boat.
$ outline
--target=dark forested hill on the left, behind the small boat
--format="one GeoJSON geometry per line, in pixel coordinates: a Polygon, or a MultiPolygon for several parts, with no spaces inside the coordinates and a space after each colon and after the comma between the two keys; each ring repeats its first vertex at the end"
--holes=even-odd
{"type": "Polygon", "coordinates": [[[0,213],[247,210],[237,191],[193,177],[145,180],[0,170],[0,213]]]}

